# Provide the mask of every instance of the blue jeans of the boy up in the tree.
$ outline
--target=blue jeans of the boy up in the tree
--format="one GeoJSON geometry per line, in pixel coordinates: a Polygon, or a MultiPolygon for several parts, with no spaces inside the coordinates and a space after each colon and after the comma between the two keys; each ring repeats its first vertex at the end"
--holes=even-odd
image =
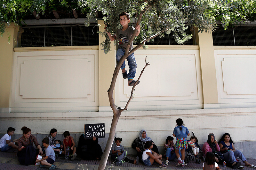
{"type": "MultiPolygon", "coordinates": [[[[124,55],[125,50],[123,48],[118,48],[116,51],[116,61],[117,63],[121,60],[122,56],[124,55]]],[[[132,80],[135,77],[136,74],[136,68],[137,68],[137,63],[135,60],[135,57],[133,53],[127,57],[128,65],[129,65],[129,73],[127,74],[128,80],[132,80]]],[[[121,66],[121,69],[125,68],[125,61],[121,66]]]]}

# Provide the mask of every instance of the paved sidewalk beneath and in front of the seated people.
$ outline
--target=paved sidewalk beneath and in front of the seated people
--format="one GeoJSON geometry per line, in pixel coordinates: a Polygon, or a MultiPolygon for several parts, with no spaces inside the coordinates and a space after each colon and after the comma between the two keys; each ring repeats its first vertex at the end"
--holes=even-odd
{"type": "MultiPolygon", "coordinates": [[[[0,152],[0,170],[47,170],[48,168],[41,168],[38,165],[30,165],[30,166],[23,166],[20,165],[17,157],[17,151],[10,150],[10,152],[0,152]]],[[[129,159],[134,160],[135,157],[127,156],[129,159]]],[[[163,159],[165,161],[165,159],[163,159]]],[[[240,162],[242,162],[240,160],[240,162]]],[[[251,164],[256,165],[256,160],[254,159],[248,159],[248,162],[251,164]]],[[[79,156],[76,157],[74,161],[71,161],[70,159],[64,159],[64,156],[59,156],[54,162],[54,165],[57,165],[57,169],[59,170],[97,170],[99,166],[100,161],[85,161],[82,160],[79,156]]],[[[196,164],[195,161],[189,161],[188,165],[185,167],[181,166],[175,166],[178,163],[178,159],[174,161],[170,161],[168,167],[166,169],[194,169],[199,170],[202,169],[203,163],[196,164]]],[[[110,157],[108,158],[106,170],[108,169],[108,166],[111,166],[112,160],[110,157]]],[[[222,170],[231,170],[232,168],[229,167],[223,167],[219,165],[222,170]]],[[[244,166],[244,163],[242,163],[242,166],[244,166]]],[[[121,166],[114,166],[114,170],[163,170],[164,168],[160,168],[157,164],[153,164],[152,166],[145,166],[142,163],[139,163],[139,165],[134,165],[131,163],[123,163],[121,166]]],[[[252,170],[253,168],[250,167],[244,167],[244,170],[252,170]]]]}

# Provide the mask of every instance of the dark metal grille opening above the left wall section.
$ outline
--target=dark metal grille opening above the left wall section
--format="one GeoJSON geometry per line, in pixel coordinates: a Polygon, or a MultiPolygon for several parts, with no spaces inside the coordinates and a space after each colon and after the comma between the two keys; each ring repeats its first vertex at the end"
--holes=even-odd
{"type": "Polygon", "coordinates": [[[93,46],[99,45],[97,26],[23,27],[18,47],[93,46]]]}

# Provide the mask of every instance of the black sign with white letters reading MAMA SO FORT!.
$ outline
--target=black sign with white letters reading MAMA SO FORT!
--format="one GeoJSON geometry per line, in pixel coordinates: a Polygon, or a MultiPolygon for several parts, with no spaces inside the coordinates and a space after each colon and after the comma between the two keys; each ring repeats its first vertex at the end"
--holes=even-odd
{"type": "Polygon", "coordinates": [[[85,124],[84,137],[85,139],[92,139],[92,137],[105,137],[105,123],[85,124]]]}

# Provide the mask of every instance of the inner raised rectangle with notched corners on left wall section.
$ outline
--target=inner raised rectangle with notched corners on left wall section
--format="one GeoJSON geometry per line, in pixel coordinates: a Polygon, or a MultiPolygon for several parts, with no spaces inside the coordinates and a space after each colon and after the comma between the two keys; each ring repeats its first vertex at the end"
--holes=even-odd
{"type": "Polygon", "coordinates": [[[20,71],[23,99],[87,98],[91,62],[88,59],[25,60],[20,71]]]}

